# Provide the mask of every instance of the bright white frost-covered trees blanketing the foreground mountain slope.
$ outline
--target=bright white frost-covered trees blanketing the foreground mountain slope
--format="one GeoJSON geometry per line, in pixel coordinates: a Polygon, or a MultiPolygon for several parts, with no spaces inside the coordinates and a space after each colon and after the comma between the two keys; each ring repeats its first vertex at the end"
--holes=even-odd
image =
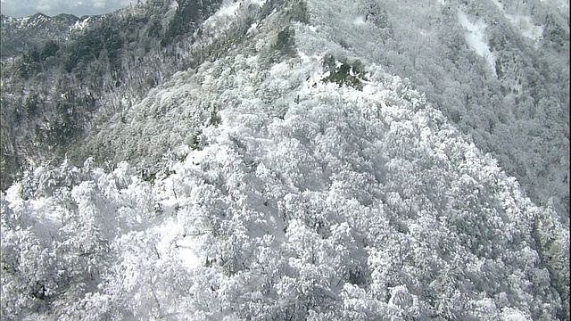
{"type": "Polygon", "coordinates": [[[339,88],[302,54],[257,84],[256,57],[225,61],[236,104],[153,185],[87,164],[8,191],[27,236],[3,226],[3,258],[38,254],[3,276],[6,316],[565,318],[568,230],[399,78],[339,88]],[[264,84],[297,89],[281,118],[264,84]]]}

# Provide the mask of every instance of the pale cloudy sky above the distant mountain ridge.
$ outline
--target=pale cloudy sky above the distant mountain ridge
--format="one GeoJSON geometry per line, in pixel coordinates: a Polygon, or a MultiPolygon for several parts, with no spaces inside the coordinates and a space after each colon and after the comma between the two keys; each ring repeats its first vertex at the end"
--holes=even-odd
{"type": "Polygon", "coordinates": [[[85,14],[113,12],[137,0],[1,0],[2,13],[12,17],[28,16],[42,12],[49,16],[71,13],[85,14]]]}

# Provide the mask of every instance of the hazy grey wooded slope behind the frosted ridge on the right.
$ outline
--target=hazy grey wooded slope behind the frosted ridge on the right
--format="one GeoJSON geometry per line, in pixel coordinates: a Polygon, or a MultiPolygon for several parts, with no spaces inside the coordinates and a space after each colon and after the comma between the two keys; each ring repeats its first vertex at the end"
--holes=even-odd
{"type": "Polygon", "coordinates": [[[539,1],[502,3],[500,10],[492,1],[310,2],[324,36],[313,48],[331,47],[333,41],[336,50],[410,78],[457,128],[517,177],[535,202],[554,204],[567,220],[568,24],[539,1]],[[539,25],[539,46],[505,14],[526,15],[539,25]],[[491,57],[477,54],[470,43],[475,33],[462,25],[462,16],[486,26],[480,45],[491,57]]]}

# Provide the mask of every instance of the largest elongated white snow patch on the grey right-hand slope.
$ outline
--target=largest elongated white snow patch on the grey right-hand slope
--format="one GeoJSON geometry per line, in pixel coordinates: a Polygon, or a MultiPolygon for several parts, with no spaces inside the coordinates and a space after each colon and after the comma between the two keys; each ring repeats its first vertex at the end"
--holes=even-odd
{"type": "Polygon", "coordinates": [[[486,42],[484,32],[487,25],[484,20],[480,19],[473,23],[468,20],[468,16],[462,11],[458,12],[458,20],[464,28],[468,29],[468,32],[464,34],[464,37],[466,38],[470,48],[488,62],[490,70],[492,70],[495,75],[496,57],[490,51],[490,45],[486,42]]]}

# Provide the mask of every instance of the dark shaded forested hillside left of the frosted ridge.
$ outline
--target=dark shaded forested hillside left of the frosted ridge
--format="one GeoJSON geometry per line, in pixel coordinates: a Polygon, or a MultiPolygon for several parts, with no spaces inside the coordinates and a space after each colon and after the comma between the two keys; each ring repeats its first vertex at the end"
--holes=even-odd
{"type": "MultiPolygon", "coordinates": [[[[203,10],[192,17],[197,24],[219,3],[201,4],[203,10]]],[[[194,27],[177,35],[184,41],[161,45],[167,33],[175,35],[177,17],[185,10],[174,1],[137,4],[105,15],[69,40],[50,41],[3,62],[1,166],[12,173],[3,177],[3,188],[23,169],[61,159],[89,128],[216,50],[219,44],[204,45],[206,53],[181,58],[180,51],[194,43],[194,27]]]]}

